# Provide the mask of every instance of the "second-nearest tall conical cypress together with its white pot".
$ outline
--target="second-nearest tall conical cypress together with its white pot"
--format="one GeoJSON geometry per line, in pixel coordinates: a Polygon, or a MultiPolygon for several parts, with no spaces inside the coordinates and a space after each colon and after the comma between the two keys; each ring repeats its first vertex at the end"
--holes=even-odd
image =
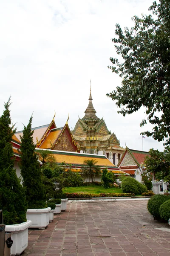
{"type": "Polygon", "coordinates": [[[32,221],[30,227],[44,229],[49,224],[51,208],[45,203],[45,187],[42,184],[40,163],[35,153],[36,145],[33,142],[34,131],[31,130],[31,124],[32,116],[28,125],[24,125],[23,136],[20,137],[20,169],[28,203],[26,216],[32,221]]]}

